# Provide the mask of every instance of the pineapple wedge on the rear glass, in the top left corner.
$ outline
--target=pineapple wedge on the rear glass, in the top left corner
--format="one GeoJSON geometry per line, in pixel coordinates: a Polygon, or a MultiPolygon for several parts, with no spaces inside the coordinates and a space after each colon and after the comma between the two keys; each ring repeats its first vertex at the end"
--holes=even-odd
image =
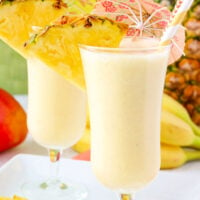
{"type": "Polygon", "coordinates": [[[32,26],[45,26],[66,12],[62,0],[1,0],[0,39],[26,57],[23,44],[32,26]]]}

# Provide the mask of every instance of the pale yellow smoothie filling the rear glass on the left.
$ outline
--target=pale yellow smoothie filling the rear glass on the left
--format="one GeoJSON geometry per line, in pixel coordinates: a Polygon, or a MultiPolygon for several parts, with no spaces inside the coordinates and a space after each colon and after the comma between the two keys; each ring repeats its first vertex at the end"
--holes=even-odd
{"type": "Polygon", "coordinates": [[[86,94],[36,59],[28,60],[28,128],[47,148],[64,149],[85,129],[86,94]]]}

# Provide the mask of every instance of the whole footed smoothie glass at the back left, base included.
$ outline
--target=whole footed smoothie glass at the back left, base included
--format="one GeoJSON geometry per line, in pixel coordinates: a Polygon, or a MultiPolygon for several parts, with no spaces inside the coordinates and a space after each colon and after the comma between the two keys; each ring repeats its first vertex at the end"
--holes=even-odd
{"type": "Polygon", "coordinates": [[[29,132],[48,149],[51,165],[46,169],[49,177],[25,183],[23,194],[30,200],[86,199],[84,186],[59,176],[62,151],[75,144],[85,129],[85,92],[36,59],[28,60],[28,89],[29,132]]]}

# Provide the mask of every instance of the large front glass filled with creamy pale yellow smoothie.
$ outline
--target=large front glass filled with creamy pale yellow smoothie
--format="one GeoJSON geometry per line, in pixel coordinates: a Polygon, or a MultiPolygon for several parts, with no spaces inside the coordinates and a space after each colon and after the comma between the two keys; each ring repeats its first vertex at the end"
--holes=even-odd
{"type": "Polygon", "coordinates": [[[80,46],[92,169],[121,200],[134,199],[160,168],[161,100],[170,47],[151,46],[147,38],[136,43],[135,48],[80,46]]]}

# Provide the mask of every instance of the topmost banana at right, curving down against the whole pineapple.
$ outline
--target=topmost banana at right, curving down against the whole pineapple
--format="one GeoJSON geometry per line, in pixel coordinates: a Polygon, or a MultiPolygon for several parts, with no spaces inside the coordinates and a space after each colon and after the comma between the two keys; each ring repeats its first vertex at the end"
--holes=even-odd
{"type": "Polygon", "coordinates": [[[190,118],[187,110],[176,100],[167,94],[163,94],[162,109],[173,113],[190,125],[196,135],[200,136],[200,127],[198,127],[190,118]]]}

